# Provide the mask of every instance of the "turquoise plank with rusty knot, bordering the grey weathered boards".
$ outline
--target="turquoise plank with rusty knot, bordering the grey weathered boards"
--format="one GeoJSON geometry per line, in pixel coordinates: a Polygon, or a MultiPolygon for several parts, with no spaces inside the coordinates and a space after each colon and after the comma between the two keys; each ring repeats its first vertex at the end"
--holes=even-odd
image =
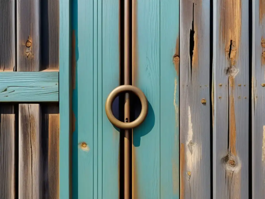
{"type": "Polygon", "coordinates": [[[160,198],[179,198],[179,1],[160,1],[160,198]]]}

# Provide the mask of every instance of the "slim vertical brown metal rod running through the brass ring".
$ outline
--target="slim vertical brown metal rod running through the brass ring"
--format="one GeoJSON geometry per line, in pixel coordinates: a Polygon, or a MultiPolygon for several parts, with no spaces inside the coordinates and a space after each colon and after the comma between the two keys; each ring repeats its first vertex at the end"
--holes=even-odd
{"type": "MultiPolygon", "coordinates": [[[[124,0],[124,84],[130,84],[130,0],[124,0]]],[[[130,98],[125,93],[124,121],[130,122],[130,98]]],[[[130,130],[124,131],[124,199],[130,198],[130,130]]]]}

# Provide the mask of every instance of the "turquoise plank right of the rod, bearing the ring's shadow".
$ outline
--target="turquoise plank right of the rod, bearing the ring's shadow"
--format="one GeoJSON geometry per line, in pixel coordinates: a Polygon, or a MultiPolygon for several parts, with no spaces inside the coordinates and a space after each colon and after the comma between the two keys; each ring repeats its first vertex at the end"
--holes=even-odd
{"type": "Polygon", "coordinates": [[[133,129],[133,192],[134,198],[160,198],[160,1],[134,3],[134,86],[149,104],[147,118],[133,129]]]}

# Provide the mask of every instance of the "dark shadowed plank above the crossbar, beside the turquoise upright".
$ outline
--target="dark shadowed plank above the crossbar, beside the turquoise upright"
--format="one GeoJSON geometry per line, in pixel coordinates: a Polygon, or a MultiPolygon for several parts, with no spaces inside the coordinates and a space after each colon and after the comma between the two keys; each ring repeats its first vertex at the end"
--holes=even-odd
{"type": "Polygon", "coordinates": [[[59,69],[59,0],[41,1],[41,68],[59,69]]]}

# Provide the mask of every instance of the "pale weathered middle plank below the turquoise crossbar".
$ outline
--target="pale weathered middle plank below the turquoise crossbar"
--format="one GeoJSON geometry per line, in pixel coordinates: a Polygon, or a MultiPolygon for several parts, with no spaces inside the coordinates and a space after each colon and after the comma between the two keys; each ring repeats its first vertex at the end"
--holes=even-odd
{"type": "Polygon", "coordinates": [[[39,104],[19,104],[19,198],[42,197],[39,104]]]}

